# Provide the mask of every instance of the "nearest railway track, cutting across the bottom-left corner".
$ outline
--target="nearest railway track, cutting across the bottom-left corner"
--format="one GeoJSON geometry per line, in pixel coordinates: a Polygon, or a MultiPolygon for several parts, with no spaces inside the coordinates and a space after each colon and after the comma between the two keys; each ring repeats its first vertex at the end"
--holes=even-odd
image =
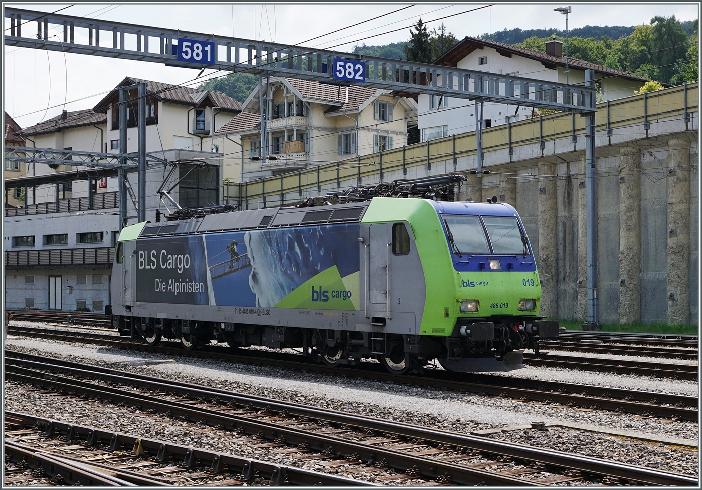
{"type": "MultiPolygon", "coordinates": [[[[251,442],[256,444],[256,440],[251,442]]],[[[371,485],[357,479],[11,411],[5,411],[4,449],[4,485],[371,485]]]]}

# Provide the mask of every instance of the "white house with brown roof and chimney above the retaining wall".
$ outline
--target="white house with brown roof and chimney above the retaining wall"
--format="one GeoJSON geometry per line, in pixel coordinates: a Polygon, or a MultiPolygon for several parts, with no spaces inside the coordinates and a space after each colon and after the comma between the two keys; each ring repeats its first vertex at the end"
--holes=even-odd
{"type": "MultiPolygon", "coordinates": [[[[527,79],[566,83],[566,58],[561,41],[548,41],[546,52],[466,36],[434,64],[527,79]]],[[[583,83],[585,69],[595,70],[598,102],[634,95],[649,79],[625,74],[599,64],[568,58],[568,83],[583,83]],[[597,81],[599,80],[599,81],[597,81]]],[[[440,76],[439,76],[440,79],[440,76]]],[[[421,140],[475,131],[475,102],[452,97],[418,95],[418,129],[421,140]]],[[[478,106],[479,107],[479,106],[478,106]]],[[[484,128],[519,121],[538,113],[531,107],[486,102],[484,128]]]]}

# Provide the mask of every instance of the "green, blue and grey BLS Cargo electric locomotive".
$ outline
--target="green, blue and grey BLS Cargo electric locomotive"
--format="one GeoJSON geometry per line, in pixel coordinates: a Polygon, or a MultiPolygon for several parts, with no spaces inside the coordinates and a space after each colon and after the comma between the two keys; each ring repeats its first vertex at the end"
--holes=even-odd
{"type": "Polygon", "coordinates": [[[331,366],[376,358],[394,373],[433,360],[453,372],[522,367],[558,322],[538,315],[517,211],[495,198],[453,202],[464,178],[128,226],[113,324],[151,345],[301,348],[331,366]]]}

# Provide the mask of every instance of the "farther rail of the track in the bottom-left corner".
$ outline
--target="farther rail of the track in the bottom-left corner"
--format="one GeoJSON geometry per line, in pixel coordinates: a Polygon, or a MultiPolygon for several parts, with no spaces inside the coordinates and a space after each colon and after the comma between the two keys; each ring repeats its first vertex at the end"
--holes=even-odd
{"type": "Polygon", "coordinates": [[[327,475],[326,473],[322,472],[303,470],[301,468],[295,468],[293,466],[281,465],[277,463],[269,463],[267,461],[241,458],[232,454],[218,453],[216,451],[208,451],[207,449],[183,446],[182,444],[174,444],[171,442],[147,439],[145,437],[115,433],[110,430],[55,421],[50,418],[43,418],[28,414],[18,414],[12,411],[5,411],[5,421],[6,423],[11,421],[16,425],[24,424],[25,426],[34,426],[37,423],[43,423],[44,427],[46,428],[46,437],[50,437],[54,433],[64,433],[67,436],[70,435],[72,439],[86,440],[86,444],[88,445],[98,444],[100,440],[107,441],[109,442],[111,449],[114,451],[122,449],[123,447],[129,448],[141,444],[141,447],[147,452],[147,454],[156,456],[159,461],[165,462],[171,458],[169,455],[175,456],[177,460],[183,461],[183,468],[187,468],[189,465],[194,465],[196,460],[200,460],[201,462],[206,461],[211,467],[213,476],[228,466],[243,475],[242,481],[253,479],[254,473],[258,472],[266,479],[272,480],[274,484],[282,484],[284,479],[287,479],[290,484],[300,486],[313,486],[319,484],[325,486],[376,486],[372,483],[361,480],[343,478],[336,475],[327,475]]]}

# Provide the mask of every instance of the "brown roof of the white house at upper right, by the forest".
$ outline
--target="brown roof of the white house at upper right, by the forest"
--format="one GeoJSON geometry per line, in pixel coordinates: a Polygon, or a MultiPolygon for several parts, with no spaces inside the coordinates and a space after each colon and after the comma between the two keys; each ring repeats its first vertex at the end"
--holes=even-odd
{"type": "MultiPolygon", "coordinates": [[[[449,67],[456,67],[458,61],[463,60],[464,57],[472,53],[473,50],[479,46],[489,46],[490,48],[495,48],[498,51],[504,51],[505,53],[515,53],[520,56],[531,58],[532,60],[537,60],[542,62],[547,68],[555,68],[557,66],[564,67],[566,65],[565,57],[553,56],[539,51],[537,49],[522,48],[522,46],[514,46],[513,44],[499,43],[498,41],[489,41],[488,39],[482,39],[479,37],[465,36],[461,41],[458,41],[453,48],[449,49],[443,55],[439,56],[434,64],[444,64],[449,67]]],[[[600,72],[607,75],[621,76],[623,79],[635,80],[635,81],[649,81],[649,79],[644,79],[642,76],[637,76],[633,74],[627,74],[626,72],[621,72],[621,70],[616,70],[608,67],[603,67],[601,64],[590,63],[585,60],[578,60],[578,58],[569,57],[568,64],[571,67],[581,68],[581,69],[594,69],[595,72],[600,72]]]]}

